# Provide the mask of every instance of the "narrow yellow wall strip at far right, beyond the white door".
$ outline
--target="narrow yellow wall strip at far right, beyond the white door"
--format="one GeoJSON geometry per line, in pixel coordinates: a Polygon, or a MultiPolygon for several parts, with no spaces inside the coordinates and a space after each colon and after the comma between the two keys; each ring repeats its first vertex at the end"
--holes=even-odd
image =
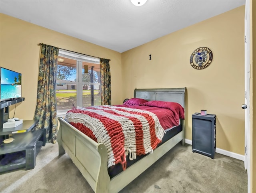
{"type": "Polygon", "coordinates": [[[251,192],[256,192],[256,113],[253,113],[253,109],[256,109],[256,2],[250,1],[251,12],[251,32],[250,32],[250,63],[251,63],[251,79],[250,79],[250,165],[251,165],[251,192]],[[252,37],[254,34],[254,38],[252,37]],[[253,66],[254,64],[254,66],[253,66]],[[254,77],[254,78],[253,78],[254,77]],[[253,164],[254,163],[254,164],[253,164]]]}

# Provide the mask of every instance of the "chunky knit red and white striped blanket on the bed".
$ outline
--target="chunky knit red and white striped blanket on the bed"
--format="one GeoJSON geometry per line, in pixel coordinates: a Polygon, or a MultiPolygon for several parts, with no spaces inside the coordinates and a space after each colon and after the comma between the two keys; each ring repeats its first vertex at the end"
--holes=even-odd
{"type": "Polygon", "coordinates": [[[108,150],[108,167],[121,163],[126,156],[152,153],[164,136],[157,116],[146,110],[102,105],[74,108],[65,120],[108,150]]]}

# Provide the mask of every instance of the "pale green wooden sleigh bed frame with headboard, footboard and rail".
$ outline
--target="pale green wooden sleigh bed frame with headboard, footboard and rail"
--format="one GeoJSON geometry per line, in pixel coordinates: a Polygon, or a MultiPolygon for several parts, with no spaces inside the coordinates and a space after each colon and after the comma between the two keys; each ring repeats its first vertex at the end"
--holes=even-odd
{"type": "MultiPolygon", "coordinates": [[[[134,97],[146,100],[178,102],[185,108],[185,92],[186,87],[174,89],[135,89],[134,97]]],[[[60,121],[57,136],[59,156],[67,152],[96,193],[116,193],[122,190],[180,141],[182,141],[183,145],[185,140],[184,121],[181,120],[182,131],[180,133],[156,148],[152,154],[144,156],[126,170],[110,179],[107,168],[107,149],[104,144],[96,143],[63,118],[58,117],[58,120],[60,121]]]]}

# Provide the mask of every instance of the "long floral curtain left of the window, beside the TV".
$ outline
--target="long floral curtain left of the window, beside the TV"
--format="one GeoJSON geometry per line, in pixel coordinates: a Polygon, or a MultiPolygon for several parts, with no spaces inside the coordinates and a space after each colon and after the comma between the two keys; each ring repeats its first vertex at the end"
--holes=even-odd
{"type": "Polygon", "coordinates": [[[56,71],[59,49],[42,44],[38,74],[38,88],[35,118],[37,129],[46,129],[46,142],[57,140],[56,71]]]}

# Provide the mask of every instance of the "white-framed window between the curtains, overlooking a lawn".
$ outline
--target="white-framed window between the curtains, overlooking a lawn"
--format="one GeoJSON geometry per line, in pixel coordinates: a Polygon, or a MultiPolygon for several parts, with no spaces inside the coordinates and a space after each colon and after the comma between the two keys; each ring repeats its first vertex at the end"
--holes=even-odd
{"type": "Polygon", "coordinates": [[[99,58],[59,49],[56,76],[58,116],[73,107],[101,105],[99,58]]]}

